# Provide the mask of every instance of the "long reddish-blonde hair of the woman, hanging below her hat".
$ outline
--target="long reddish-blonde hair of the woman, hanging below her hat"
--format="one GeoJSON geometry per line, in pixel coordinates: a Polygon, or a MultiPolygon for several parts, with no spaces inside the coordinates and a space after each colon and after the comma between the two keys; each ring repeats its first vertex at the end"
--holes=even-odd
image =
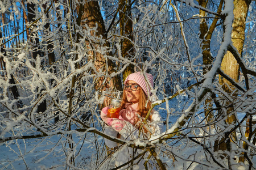
{"type": "MultiPolygon", "coordinates": [[[[139,88],[139,91],[140,91],[139,92],[139,103],[138,103],[138,114],[142,118],[145,118],[147,116],[147,112],[150,110],[151,101],[147,100],[147,95],[142,90],[142,88],[141,87],[138,87],[138,88],[139,88]]],[[[121,110],[125,108],[126,103],[129,103],[129,101],[127,100],[125,90],[123,90],[123,99],[122,99],[122,102],[121,102],[121,110]]],[[[138,120],[138,118],[135,119],[135,120],[138,120]]],[[[148,117],[148,120],[151,121],[151,116],[148,117]]],[[[135,122],[135,124],[136,123],[137,122],[135,122]]]]}

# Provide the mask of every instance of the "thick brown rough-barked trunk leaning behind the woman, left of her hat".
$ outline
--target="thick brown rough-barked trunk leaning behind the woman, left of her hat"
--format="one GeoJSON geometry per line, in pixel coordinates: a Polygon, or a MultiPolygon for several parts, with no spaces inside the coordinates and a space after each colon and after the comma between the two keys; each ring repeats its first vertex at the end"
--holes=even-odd
{"type": "MultiPolygon", "coordinates": [[[[77,11],[79,11],[79,17],[81,17],[81,24],[80,25],[88,25],[90,28],[94,28],[97,25],[97,32],[91,31],[91,35],[96,35],[96,37],[102,37],[102,39],[106,39],[106,29],[105,29],[105,25],[104,25],[104,20],[102,18],[101,15],[101,11],[100,11],[100,6],[98,5],[97,1],[86,1],[85,3],[79,3],[77,5],[77,11]]],[[[79,23],[78,23],[79,24],[79,23]]],[[[86,29],[86,27],[83,27],[84,29],[86,29]]],[[[103,44],[104,46],[109,46],[109,43],[106,41],[105,44],[103,44]]],[[[95,43],[94,45],[92,44],[87,44],[89,49],[96,49],[98,48],[99,45],[97,45],[97,43],[95,43]]],[[[112,56],[112,54],[108,54],[110,56],[112,56]]],[[[92,56],[90,59],[92,59],[94,61],[94,66],[96,68],[96,71],[100,71],[101,69],[103,69],[102,71],[107,71],[106,70],[106,59],[103,57],[103,54],[98,53],[98,52],[93,52],[93,50],[91,51],[91,55],[92,56]]],[[[108,73],[111,74],[114,72],[114,63],[112,62],[112,60],[108,59],[108,73]]],[[[100,90],[100,91],[104,91],[106,89],[112,90],[118,90],[118,91],[122,91],[122,86],[121,86],[121,79],[119,76],[115,76],[114,78],[107,78],[106,84],[103,84],[104,81],[104,77],[101,77],[97,80],[95,89],[96,90],[100,90]]],[[[106,105],[110,104],[110,98],[106,97],[105,98],[105,102],[104,104],[101,106],[105,107],[106,105]]]]}

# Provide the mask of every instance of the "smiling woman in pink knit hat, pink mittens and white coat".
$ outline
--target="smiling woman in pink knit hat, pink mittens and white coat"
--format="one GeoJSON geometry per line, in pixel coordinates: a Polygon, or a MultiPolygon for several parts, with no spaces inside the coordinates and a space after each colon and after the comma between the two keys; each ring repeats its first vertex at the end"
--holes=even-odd
{"type": "MultiPolygon", "coordinates": [[[[105,134],[130,141],[138,138],[148,139],[150,135],[159,135],[162,133],[160,115],[158,112],[153,111],[148,118],[148,125],[143,126],[139,136],[141,122],[144,121],[151,107],[151,101],[148,100],[148,97],[151,96],[151,88],[154,87],[153,76],[147,73],[146,76],[147,78],[141,72],[127,76],[124,82],[121,111],[119,112],[118,118],[107,117],[108,107],[102,109],[101,118],[106,125],[105,134]]],[[[110,148],[118,146],[117,143],[108,139],[105,139],[105,143],[110,148]]],[[[126,145],[120,146],[117,154],[114,154],[115,167],[129,162],[138,155],[139,151],[135,153],[134,148],[126,145]]],[[[147,158],[147,156],[148,154],[144,155],[143,158],[147,158]]],[[[129,164],[122,168],[133,166],[132,169],[144,169],[144,162],[144,159],[139,158],[133,160],[133,165],[129,164]]]]}

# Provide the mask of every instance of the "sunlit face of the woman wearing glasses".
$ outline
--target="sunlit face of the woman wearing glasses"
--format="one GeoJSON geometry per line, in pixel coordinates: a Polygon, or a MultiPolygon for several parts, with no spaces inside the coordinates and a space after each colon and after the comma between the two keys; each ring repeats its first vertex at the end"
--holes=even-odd
{"type": "MultiPolygon", "coordinates": [[[[128,80],[126,82],[126,85],[131,86],[131,85],[138,85],[134,80],[128,80]]],[[[134,90],[134,87],[132,88],[134,90]]],[[[141,87],[137,87],[137,90],[133,91],[131,90],[131,87],[127,87],[125,90],[126,98],[129,102],[131,103],[138,103],[139,102],[139,97],[140,97],[140,91],[141,87]]]]}

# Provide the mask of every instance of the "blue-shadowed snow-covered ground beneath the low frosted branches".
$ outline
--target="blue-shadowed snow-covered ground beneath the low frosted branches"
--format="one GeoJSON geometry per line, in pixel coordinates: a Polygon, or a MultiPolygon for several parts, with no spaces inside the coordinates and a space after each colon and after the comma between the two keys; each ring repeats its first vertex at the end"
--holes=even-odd
{"type": "MultiPolygon", "coordinates": [[[[7,144],[2,143],[0,146],[0,169],[64,169],[66,156],[59,138],[60,137],[55,136],[46,139],[27,139],[26,141],[19,139],[7,144]],[[24,145],[24,142],[26,142],[26,145],[24,145]],[[59,143],[59,145],[56,146],[57,143],[59,143]],[[19,146],[19,148],[17,146],[19,146]],[[49,152],[51,153],[49,154],[49,152]]],[[[74,137],[73,139],[76,138],[74,137]]],[[[90,160],[95,153],[93,153],[94,148],[90,147],[90,145],[90,142],[85,142],[82,146],[82,141],[80,141],[77,146],[77,148],[82,146],[81,154],[76,158],[76,163],[81,164],[81,169],[93,169],[89,167],[93,167],[93,165],[90,164],[90,160]]],[[[183,151],[182,154],[180,153],[180,155],[183,156],[194,154],[198,156],[198,160],[205,159],[202,150],[198,147],[193,148],[191,146],[191,149],[187,152],[183,151]]],[[[176,159],[177,161],[174,163],[175,167],[172,169],[204,169],[202,165],[195,163],[191,165],[189,162],[184,162],[182,159],[176,159]]],[[[170,166],[172,165],[171,159],[163,158],[162,161],[168,163],[170,166]]],[[[254,164],[255,163],[256,160],[254,160],[254,164]]],[[[237,167],[237,169],[243,170],[246,168],[237,167]]]]}

